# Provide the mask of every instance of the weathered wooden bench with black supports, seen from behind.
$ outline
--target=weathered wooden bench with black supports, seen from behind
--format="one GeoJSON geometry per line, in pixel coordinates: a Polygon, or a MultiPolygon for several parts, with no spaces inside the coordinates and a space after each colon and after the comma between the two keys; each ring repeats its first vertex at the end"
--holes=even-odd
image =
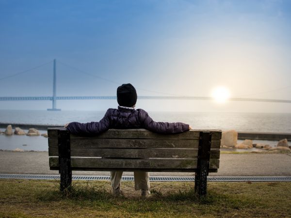
{"type": "Polygon", "coordinates": [[[146,129],[110,129],[96,137],[48,128],[49,167],[70,187],[73,171],[195,172],[195,191],[206,195],[207,175],[217,172],[220,130],[162,135],[146,129]],[[101,158],[102,157],[102,158],[101,158]]]}

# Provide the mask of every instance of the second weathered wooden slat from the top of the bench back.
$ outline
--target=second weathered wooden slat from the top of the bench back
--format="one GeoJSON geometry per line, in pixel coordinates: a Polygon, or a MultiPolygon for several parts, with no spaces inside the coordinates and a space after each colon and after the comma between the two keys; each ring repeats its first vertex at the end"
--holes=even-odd
{"type": "MultiPolygon", "coordinates": [[[[198,148],[199,140],[165,139],[100,139],[71,138],[71,148],[198,148]]],[[[49,147],[57,147],[56,138],[49,138],[49,147]]],[[[220,148],[220,140],[212,140],[211,148],[220,148]]]]}

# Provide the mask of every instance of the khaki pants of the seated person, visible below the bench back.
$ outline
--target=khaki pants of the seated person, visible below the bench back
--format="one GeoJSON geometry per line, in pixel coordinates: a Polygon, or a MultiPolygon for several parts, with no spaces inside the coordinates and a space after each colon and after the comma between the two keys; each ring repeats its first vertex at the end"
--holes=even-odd
{"type": "MultiPolygon", "coordinates": [[[[123,171],[111,171],[110,179],[111,186],[116,189],[120,187],[120,180],[123,171]]],[[[149,190],[149,173],[144,171],[134,171],[134,188],[135,190],[149,190]]]]}

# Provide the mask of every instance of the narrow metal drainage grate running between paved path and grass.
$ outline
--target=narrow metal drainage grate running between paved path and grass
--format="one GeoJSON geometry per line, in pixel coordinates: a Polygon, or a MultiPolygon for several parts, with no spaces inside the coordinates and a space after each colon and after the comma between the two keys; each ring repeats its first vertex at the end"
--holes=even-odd
{"type": "MultiPolygon", "coordinates": [[[[0,174],[0,179],[60,179],[60,175],[0,174]]],[[[110,176],[73,175],[73,180],[110,180],[110,176]]],[[[134,181],[133,176],[122,176],[124,181],[134,181]]],[[[150,176],[151,182],[193,182],[194,176],[150,176]]],[[[208,176],[209,182],[291,182],[291,176],[208,176]]]]}

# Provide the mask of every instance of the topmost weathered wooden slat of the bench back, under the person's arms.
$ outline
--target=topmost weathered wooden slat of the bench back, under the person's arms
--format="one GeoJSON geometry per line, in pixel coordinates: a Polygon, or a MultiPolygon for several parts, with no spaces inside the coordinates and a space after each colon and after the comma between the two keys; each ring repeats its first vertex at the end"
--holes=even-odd
{"type": "MultiPolygon", "coordinates": [[[[60,128],[48,128],[48,136],[50,138],[57,138],[57,129],[60,128]]],[[[62,128],[64,129],[64,128],[62,128]]],[[[154,132],[150,132],[146,129],[109,129],[108,131],[96,136],[96,138],[103,139],[198,139],[200,131],[203,130],[194,130],[173,134],[173,135],[164,135],[154,132]]],[[[207,130],[212,131],[212,139],[220,140],[221,131],[219,130],[207,130]]],[[[73,138],[80,138],[79,136],[71,136],[73,138]]]]}

